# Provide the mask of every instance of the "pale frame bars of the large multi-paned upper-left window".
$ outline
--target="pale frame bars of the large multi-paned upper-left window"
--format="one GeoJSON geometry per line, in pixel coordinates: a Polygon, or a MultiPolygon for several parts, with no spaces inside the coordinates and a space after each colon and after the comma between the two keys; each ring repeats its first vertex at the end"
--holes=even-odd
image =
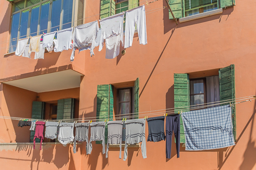
{"type": "MultiPolygon", "coordinates": [[[[27,6],[28,4],[28,0],[22,0],[22,1],[25,1],[24,3],[24,7],[27,6]]],[[[61,0],[61,12],[60,12],[60,21],[59,21],[59,30],[62,29],[62,20],[63,20],[63,1],[64,0],[61,0]]],[[[20,1],[18,1],[20,2],[20,1]]],[[[15,2],[17,3],[17,2],[15,2]]],[[[31,25],[31,15],[32,15],[32,8],[35,7],[35,6],[38,6],[39,5],[39,14],[38,14],[38,22],[37,22],[37,33],[36,35],[39,35],[39,33],[41,31],[44,31],[44,33],[50,33],[51,32],[51,17],[52,17],[52,6],[53,6],[53,0],[40,0],[39,3],[37,4],[34,4],[34,5],[31,5],[29,7],[26,7],[26,8],[23,8],[21,10],[18,10],[18,11],[15,11],[15,3],[12,5],[12,13],[11,13],[11,26],[10,26],[10,32],[9,32],[9,40],[11,41],[11,31],[12,31],[12,18],[13,18],[13,15],[17,14],[17,13],[20,13],[19,14],[19,25],[18,25],[18,31],[17,31],[17,38],[14,38],[13,41],[16,40],[16,42],[18,42],[18,39],[22,39],[22,38],[26,38],[26,37],[29,37],[30,36],[30,25],[31,25]],[[41,7],[42,7],[42,4],[44,3],[47,3],[47,2],[50,2],[50,5],[49,5],[49,14],[48,14],[48,26],[47,26],[47,29],[46,30],[40,30],[40,16],[41,16],[41,7]],[[19,34],[20,34],[20,21],[22,19],[22,11],[25,11],[25,10],[29,10],[29,18],[28,18],[28,26],[27,26],[27,34],[26,34],[26,37],[25,35],[23,37],[19,37],[19,34]]],[[[74,23],[75,23],[75,13],[77,12],[77,8],[76,8],[76,1],[73,0],[73,5],[72,5],[72,21],[71,21],[71,27],[74,27],[74,23]]],[[[84,15],[84,14],[83,14],[84,15]]],[[[13,53],[13,52],[10,52],[11,50],[11,43],[9,41],[9,44],[8,44],[8,51],[7,53],[13,53]]],[[[17,43],[16,43],[17,45],[17,43]]],[[[15,46],[16,47],[16,46],[15,46]]]]}

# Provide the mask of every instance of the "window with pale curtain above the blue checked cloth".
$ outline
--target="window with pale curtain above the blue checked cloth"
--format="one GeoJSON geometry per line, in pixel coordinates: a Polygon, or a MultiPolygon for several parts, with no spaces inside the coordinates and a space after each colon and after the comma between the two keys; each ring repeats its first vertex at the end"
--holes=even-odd
{"type": "MultiPolygon", "coordinates": [[[[220,101],[219,76],[190,79],[190,106],[220,101]]],[[[207,104],[210,105],[210,104],[207,104]]],[[[202,105],[200,105],[202,106],[202,105]]],[[[212,106],[217,107],[218,105],[212,106]]],[[[193,108],[193,107],[191,107],[193,108]]]]}

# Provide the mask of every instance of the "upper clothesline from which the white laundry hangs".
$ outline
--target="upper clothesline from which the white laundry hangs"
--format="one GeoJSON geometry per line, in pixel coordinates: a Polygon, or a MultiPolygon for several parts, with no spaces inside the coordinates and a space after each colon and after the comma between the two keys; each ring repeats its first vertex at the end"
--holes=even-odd
{"type": "MultiPolygon", "coordinates": [[[[157,1],[158,1],[158,0],[157,0],[157,1]]],[[[142,2],[147,2],[147,1],[142,1],[142,2]]],[[[140,2],[140,3],[135,3],[135,4],[132,4],[132,5],[141,4],[142,2],[140,2]]],[[[155,2],[155,1],[152,1],[152,2],[155,2]]],[[[150,3],[152,3],[152,2],[150,2],[150,3]]],[[[148,4],[150,4],[150,3],[148,3],[148,4]]],[[[129,6],[132,6],[132,5],[128,5],[128,6],[125,6],[125,7],[129,7],[129,6]]],[[[142,6],[142,5],[140,5],[140,6],[142,6]]],[[[140,6],[138,6],[138,7],[140,7],[140,6]]],[[[121,7],[121,8],[125,8],[125,7],[121,7]]],[[[118,8],[118,9],[121,9],[121,8],[118,8]]],[[[160,7],[160,8],[161,8],[161,10],[162,10],[162,9],[167,8],[167,6],[166,6],[166,7],[160,7]]],[[[160,8],[155,8],[155,9],[153,9],[153,10],[157,10],[157,9],[160,9],[160,8]]],[[[115,10],[117,10],[117,9],[115,9],[115,10]]],[[[115,10],[111,10],[111,11],[115,11],[115,10]]],[[[149,11],[153,11],[153,10],[149,10],[149,11]]],[[[109,12],[111,12],[111,11],[109,11],[109,12]]],[[[149,11],[146,11],[146,12],[149,12],[149,11]]],[[[157,11],[159,11],[159,10],[157,10],[157,11]]],[[[156,12],[156,11],[154,11],[154,12],[156,12]]],[[[153,13],[153,12],[151,12],[151,13],[153,13]]],[[[103,14],[105,14],[105,13],[103,13],[103,14]]],[[[150,14],[150,13],[148,13],[148,14],[150,14]]],[[[77,19],[77,20],[74,20],[74,21],[71,21],[71,22],[63,23],[63,24],[58,25],[58,26],[55,26],[55,27],[51,27],[51,28],[49,28],[49,29],[53,29],[53,28],[56,28],[56,27],[59,27],[59,26],[67,25],[67,24],[69,24],[69,23],[72,23],[72,22],[75,22],[75,21],[79,21],[79,20],[82,20],[82,19],[86,19],[86,18],[90,18],[90,17],[97,16],[97,15],[102,15],[102,14],[99,13],[99,14],[92,15],[92,16],[89,16],[89,17],[77,19]]],[[[39,32],[47,31],[47,30],[48,30],[48,29],[39,30],[39,32]]],[[[37,32],[30,33],[29,36],[32,35],[32,34],[35,34],[35,33],[37,33],[37,32]]],[[[25,37],[25,36],[27,37],[27,35],[24,35],[24,36],[20,36],[20,37],[18,37],[18,38],[20,39],[21,37],[25,37]]],[[[26,37],[25,37],[25,38],[26,38],[26,37]]],[[[8,40],[8,41],[2,41],[2,42],[0,42],[0,44],[2,44],[2,43],[8,43],[8,42],[11,42],[11,41],[17,41],[17,38],[12,38],[12,39],[10,39],[10,40],[8,40]]],[[[16,46],[16,45],[13,45],[13,46],[10,46],[10,47],[15,47],[15,46],[16,46]]],[[[9,47],[0,48],[0,50],[3,50],[3,49],[5,49],[5,48],[9,48],[9,47]]]]}

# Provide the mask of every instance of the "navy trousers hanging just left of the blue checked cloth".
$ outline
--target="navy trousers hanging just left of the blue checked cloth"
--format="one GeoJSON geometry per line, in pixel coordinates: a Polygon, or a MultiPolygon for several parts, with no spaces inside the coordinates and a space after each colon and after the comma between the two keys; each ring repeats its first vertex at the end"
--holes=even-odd
{"type": "Polygon", "coordinates": [[[166,158],[170,159],[172,149],[173,132],[176,139],[177,158],[180,157],[180,115],[173,114],[166,116],[165,135],[166,135],[166,158]]]}

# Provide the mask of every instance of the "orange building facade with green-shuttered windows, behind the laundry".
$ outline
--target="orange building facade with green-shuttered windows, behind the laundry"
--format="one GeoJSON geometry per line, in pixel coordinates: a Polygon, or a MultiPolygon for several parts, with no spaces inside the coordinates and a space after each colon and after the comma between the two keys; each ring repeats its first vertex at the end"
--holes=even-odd
{"type": "MultiPolygon", "coordinates": [[[[63,147],[47,138],[42,150],[38,143],[33,149],[29,127],[20,128],[18,120],[3,118],[84,118],[88,122],[90,117],[95,122],[96,117],[117,119],[128,113],[130,118],[144,118],[145,114],[152,117],[150,113],[170,113],[170,108],[226,100],[235,103],[234,99],[239,102],[255,95],[254,1],[169,1],[177,25],[164,0],[150,2],[0,2],[2,169],[256,169],[254,100],[233,109],[236,145],[185,151],[181,123],[180,158],[173,135],[170,159],[165,156],[165,141],[146,142],[145,159],[140,145],[131,145],[126,161],[118,158],[115,145],[105,158],[102,145],[96,142],[91,155],[86,154],[86,142],[78,142],[75,154],[73,144],[63,147]],[[101,52],[96,47],[92,57],[89,51],[76,51],[73,62],[72,50],[47,52],[37,60],[33,53],[31,59],[15,56],[17,38],[75,27],[138,5],[145,5],[147,44],[140,44],[135,31],[133,45],[120,46],[114,59],[105,58],[105,46],[101,52]]],[[[146,137],[147,133],[146,126],[146,137]]]]}

